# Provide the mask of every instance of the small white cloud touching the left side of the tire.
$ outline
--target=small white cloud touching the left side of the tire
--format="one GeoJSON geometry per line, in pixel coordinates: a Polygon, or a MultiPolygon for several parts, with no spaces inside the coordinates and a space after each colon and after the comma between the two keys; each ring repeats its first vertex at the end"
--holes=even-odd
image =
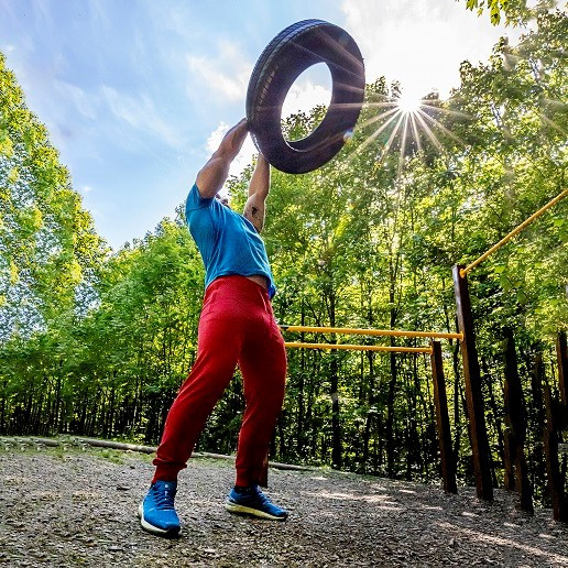
{"type": "Polygon", "coordinates": [[[236,44],[221,42],[216,57],[187,55],[187,65],[193,74],[192,90],[197,79],[216,97],[244,101],[252,64],[244,61],[236,44]]]}

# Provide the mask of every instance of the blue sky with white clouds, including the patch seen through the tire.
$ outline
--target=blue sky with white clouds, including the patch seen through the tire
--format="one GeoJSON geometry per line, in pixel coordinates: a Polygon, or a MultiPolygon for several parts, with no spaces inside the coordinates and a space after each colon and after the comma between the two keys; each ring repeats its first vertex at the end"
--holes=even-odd
{"type": "MultiPolygon", "coordinates": [[[[501,35],[465,0],[0,0],[0,52],[48,131],[97,232],[114,249],[173,218],[227,129],[244,117],[267,43],[316,18],[347,30],[367,83],[406,94],[459,87],[501,35]]],[[[286,116],[326,103],[324,64],[292,87],[286,116]]],[[[251,162],[245,142],[231,173],[251,162]]]]}

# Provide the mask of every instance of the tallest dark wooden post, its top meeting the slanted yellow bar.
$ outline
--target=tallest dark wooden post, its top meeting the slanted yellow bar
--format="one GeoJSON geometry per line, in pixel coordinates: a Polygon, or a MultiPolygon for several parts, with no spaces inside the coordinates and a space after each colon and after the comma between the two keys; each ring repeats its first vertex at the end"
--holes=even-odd
{"type": "Polygon", "coordinates": [[[466,400],[469,414],[469,433],[471,450],[473,454],[473,470],[476,473],[476,487],[479,499],[493,501],[493,487],[491,484],[491,455],[489,449],[485,415],[483,411],[483,395],[481,392],[481,373],[479,370],[478,352],[476,349],[476,336],[473,334],[473,317],[471,315],[471,301],[469,297],[467,275],[461,276],[463,266],[454,266],[454,292],[456,294],[456,308],[459,330],[463,334],[461,341],[461,358],[463,363],[463,379],[466,383],[466,400]]]}

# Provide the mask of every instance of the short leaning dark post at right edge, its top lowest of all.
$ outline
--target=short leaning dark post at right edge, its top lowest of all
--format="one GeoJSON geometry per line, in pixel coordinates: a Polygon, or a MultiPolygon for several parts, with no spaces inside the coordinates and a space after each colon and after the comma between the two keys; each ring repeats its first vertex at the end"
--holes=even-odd
{"type": "Polygon", "coordinates": [[[564,495],[564,479],[560,476],[558,460],[558,435],[556,433],[555,401],[549,385],[544,387],[546,406],[546,428],[544,432],[544,446],[546,455],[546,472],[548,474],[548,491],[553,502],[553,515],[555,521],[568,522],[568,504],[564,495]]]}

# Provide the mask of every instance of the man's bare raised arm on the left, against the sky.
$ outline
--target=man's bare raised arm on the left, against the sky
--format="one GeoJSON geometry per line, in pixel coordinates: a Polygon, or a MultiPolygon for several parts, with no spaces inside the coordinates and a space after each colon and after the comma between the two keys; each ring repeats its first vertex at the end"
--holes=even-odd
{"type": "Polygon", "coordinates": [[[225,134],[219,148],[197,174],[199,195],[206,199],[215,197],[229,176],[231,162],[240,152],[249,132],[247,119],[242,119],[225,134]]]}

